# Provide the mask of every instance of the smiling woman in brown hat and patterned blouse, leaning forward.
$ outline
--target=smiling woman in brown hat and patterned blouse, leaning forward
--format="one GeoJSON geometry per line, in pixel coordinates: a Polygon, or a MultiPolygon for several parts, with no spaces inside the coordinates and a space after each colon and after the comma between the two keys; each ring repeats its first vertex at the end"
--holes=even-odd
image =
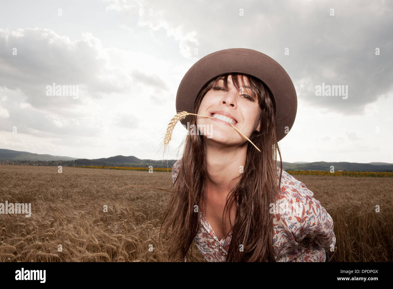
{"type": "Polygon", "coordinates": [[[172,227],[170,259],[187,260],[192,242],[207,261],[327,259],[325,248],[336,242],[331,216],[305,184],[282,171],[281,160],[277,167],[277,142],[292,127],[296,104],[285,70],[255,50],[221,50],[190,68],[176,109],[213,119],[182,121],[209,135],[189,133],[173,166],[178,190],[163,219],[165,232],[172,227]]]}

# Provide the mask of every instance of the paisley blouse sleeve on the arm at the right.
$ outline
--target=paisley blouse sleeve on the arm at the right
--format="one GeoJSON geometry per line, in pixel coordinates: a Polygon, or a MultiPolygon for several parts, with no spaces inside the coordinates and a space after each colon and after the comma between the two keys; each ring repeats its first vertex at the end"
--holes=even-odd
{"type": "Polygon", "coordinates": [[[333,219],[321,206],[320,201],[314,199],[314,193],[307,189],[303,182],[283,171],[287,177],[288,188],[286,189],[286,204],[289,210],[282,217],[294,236],[296,242],[307,238],[329,249],[336,244],[336,236],[333,232],[333,219]]]}

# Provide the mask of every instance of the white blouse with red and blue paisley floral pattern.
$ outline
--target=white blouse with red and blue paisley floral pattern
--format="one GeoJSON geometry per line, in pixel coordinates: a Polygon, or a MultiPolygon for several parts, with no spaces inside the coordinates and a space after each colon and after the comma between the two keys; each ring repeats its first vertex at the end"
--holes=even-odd
{"type": "MultiPolygon", "coordinates": [[[[173,182],[181,162],[180,159],[173,165],[173,182]]],[[[279,176],[280,168],[277,167],[277,180],[279,176]]],[[[329,257],[325,249],[336,244],[332,217],[314,199],[314,193],[286,171],[282,173],[280,188],[279,200],[270,208],[275,215],[273,249],[276,261],[325,262],[329,257]]],[[[219,240],[202,212],[199,212],[199,220],[194,238],[196,247],[208,262],[225,262],[232,233],[219,240]]]]}

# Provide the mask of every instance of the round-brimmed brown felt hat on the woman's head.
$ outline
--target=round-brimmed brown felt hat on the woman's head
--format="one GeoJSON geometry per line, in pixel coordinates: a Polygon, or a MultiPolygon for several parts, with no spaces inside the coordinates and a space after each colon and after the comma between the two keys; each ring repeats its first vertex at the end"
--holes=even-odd
{"type": "MultiPolygon", "coordinates": [[[[252,75],[260,79],[274,98],[277,142],[286,136],[295,121],[298,99],[284,68],[268,55],[247,48],[219,50],[198,60],[184,75],[176,94],[176,113],[193,112],[196,96],[205,85],[228,72],[252,75]],[[286,130],[286,127],[288,128],[286,130]]],[[[187,115],[181,123],[187,127],[187,115]]]]}

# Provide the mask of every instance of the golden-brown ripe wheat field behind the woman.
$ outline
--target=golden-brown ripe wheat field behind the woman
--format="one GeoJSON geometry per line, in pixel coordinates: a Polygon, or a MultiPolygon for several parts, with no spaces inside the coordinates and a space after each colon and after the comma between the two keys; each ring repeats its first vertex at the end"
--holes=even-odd
{"type": "MultiPolygon", "coordinates": [[[[393,178],[293,176],[334,220],[331,262],[393,261],[393,178]]],[[[171,173],[0,165],[0,202],[32,210],[0,214],[0,261],[167,261],[158,230],[170,193],[130,185],[169,188],[171,173]]]]}

